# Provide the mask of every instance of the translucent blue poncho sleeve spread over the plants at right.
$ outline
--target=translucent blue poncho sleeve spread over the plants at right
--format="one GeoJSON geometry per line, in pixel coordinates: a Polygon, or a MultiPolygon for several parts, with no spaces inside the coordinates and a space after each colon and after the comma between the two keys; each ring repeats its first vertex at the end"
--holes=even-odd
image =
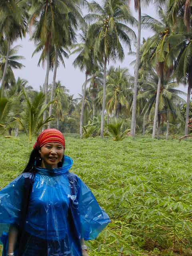
{"type": "Polygon", "coordinates": [[[91,190],[78,177],[77,200],[80,211],[81,233],[84,240],[93,240],[110,223],[91,190]]]}

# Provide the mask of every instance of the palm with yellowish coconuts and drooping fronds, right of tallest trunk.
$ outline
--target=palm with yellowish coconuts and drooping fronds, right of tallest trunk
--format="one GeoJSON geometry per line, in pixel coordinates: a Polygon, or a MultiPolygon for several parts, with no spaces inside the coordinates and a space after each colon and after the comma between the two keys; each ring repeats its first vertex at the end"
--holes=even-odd
{"type": "Polygon", "coordinates": [[[169,37],[172,33],[172,24],[168,17],[167,10],[163,11],[159,8],[160,21],[152,18],[151,16],[142,16],[142,24],[145,28],[150,28],[155,32],[154,36],[148,38],[148,40],[142,46],[143,54],[142,61],[152,61],[153,65],[157,68],[158,74],[158,87],[156,94],[156,106],[153,123],[152,138],[155,138],[156,134],[156,122],[158,118],[158,106],[160,88],[164,78],[169,78],[173,70],[174,51],[169,42],[169,37]]]}

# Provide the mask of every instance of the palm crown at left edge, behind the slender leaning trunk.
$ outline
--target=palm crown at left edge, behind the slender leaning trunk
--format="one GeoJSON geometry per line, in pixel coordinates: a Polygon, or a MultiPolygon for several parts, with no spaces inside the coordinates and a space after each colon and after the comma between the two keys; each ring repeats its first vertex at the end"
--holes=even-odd
{"type": "MultiPolygon", "coordinates": [[[[2,39],[0,45],[0,80],[4,79],[4,88],[8,87],[9,84],[15,82],[13,69],[21,69],[24,67],[19,61],[23,60],[24,57],[17,55],[17,52],[21,46],[16,45],[13,48],[10,47],[7,56],[8,42],[2,39]],[[6,66],[7,65],[7,66],[6,66]],[[6,67],[5,67],[6,66],[6,67]],[[4,70],[6,70],[6,77],[3,78],[4,70]]],[[[4,90],[4,89],[2,89],[4,90]]]]}

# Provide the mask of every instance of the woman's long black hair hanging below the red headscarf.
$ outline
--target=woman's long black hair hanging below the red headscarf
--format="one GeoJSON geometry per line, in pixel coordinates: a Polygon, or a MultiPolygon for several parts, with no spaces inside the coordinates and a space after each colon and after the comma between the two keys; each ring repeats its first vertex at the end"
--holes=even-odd
{"type": "MultiPolygon", "coordinates": [[[[28,161],[28,164],[26,165],[25,169],[23,170],[23,172],[33,172],[36,173],[36,166],[37,167],[41,167],[41,156],[39,154],[39,150],[37,149],[33,149],[31,154],[30,154],[30,158],[28,161]]],[[[64,162],[64,156],[61,160],[61,162],[58,163],[58,167],[62,167],[64,162]]]]}

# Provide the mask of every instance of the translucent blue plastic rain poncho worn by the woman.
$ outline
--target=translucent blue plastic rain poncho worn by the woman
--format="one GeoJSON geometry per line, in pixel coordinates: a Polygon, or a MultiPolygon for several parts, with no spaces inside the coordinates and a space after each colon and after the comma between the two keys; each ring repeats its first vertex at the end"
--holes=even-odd
{"type": "Polygon", "coordinates": [[[17,256],[81,256],[80,239],[92,240],[110,219],[90,189],[69,172],[73,161],[64,157],[61,168],[36,168],[22,173],[0,191],[0,236],[8,248],[8,230],[21,230],[17,256]],[[26,180],[32,181],[26,217],[23,217],[26,180]]]}

